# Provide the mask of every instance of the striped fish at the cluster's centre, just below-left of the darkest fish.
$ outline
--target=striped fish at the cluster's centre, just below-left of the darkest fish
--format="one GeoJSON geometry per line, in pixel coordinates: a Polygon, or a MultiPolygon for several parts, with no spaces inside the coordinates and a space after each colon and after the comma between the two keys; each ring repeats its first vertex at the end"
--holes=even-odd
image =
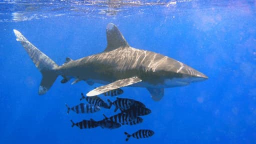
{"type": "Polygon", "coordinates": [[[128,114],[126,113],[118,113],[118,114],[115,114],[113,116],[110,116],[110,117],[106,117],[105,114],[103,114],[104,116],[104,119],[105,120],[110,120],[110,121],[113,121],[113,122],[116,122],[116,123],[120,123],[120,124],[124,124],[124,123],[128,123],[129,121],[135,119],[135,118],[131,118],[128,114]]]}

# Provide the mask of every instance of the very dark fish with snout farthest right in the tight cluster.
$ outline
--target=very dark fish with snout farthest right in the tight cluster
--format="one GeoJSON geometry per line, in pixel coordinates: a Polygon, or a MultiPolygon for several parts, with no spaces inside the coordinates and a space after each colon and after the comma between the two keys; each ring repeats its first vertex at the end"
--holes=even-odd
{"type": "Polygon", "coordinates": [[[140,107],[140,106],[133,106],[130,109],[123,110],[131,119],[135,119],[138,116],[141,115],[147,115],[151,113],[151,110],[146,107],[140,107]]]}

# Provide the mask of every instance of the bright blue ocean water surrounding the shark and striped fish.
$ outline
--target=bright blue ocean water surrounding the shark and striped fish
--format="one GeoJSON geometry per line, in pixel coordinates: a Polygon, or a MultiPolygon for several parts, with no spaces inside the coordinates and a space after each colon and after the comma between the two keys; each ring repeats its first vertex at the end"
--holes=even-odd
{"type": "Polygon", "coordinates": [[[256,142],[255,0],[0,1],[0,143],[256,142]],[[81,92],[99,84],[62,84],[59,76],[39,96],[41,74],[12,29],[62,64],[67,56],[103,51],[109,22],[132,47],[177,59],[209,79],[166,88],[159,102],[145,88],[124,87],[120,97],[139,100],[152,111],[141,124],[71,127],[70,119],[113,115],[113,109],[66,114],[64,103],[78,104],[81,92]],[[138,129],[152,129],[154,135],[124,140],[124,131],[138,129]]]}

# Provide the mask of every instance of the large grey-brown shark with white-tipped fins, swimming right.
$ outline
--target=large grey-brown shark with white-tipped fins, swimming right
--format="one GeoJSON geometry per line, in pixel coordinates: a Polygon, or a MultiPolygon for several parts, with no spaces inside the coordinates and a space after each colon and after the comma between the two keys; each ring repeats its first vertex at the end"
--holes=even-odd
{"type": "Polygon", "coordinates": [[[87,96],[123,86],[135,86],[147,88],[155,101],[162,98],[164,88],[183,86],[208,78],[168,56],[131,47],[113,23],[106,26],[107,46],[103,52],[77,60],[67,57],[62,65],[57,65],[18,30],[13,31],[16,40],[20,41],[42,74],[39,95],[46,93],[58,75],[63,77],[61,83],[75,78],[72,84],[80,80],[86,81],[89,85],[94,82],[105,84],[89,91],[87,96]]]}

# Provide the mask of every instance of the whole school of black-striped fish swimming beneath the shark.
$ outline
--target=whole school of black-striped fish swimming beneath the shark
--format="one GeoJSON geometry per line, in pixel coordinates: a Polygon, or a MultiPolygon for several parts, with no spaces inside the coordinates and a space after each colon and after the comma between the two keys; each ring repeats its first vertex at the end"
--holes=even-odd
{"type": "MultiPolygon", "coordinates": [[[[102,95],[104,96],[117,96],[123,93],[123,90],[121,88],[117,88],[111,91],[104,92],[102,95]]],[[[80,101],[85,99],[87,103],[80,103],[75,106],[69,107],[67,104],[67,114],[70,110],[74,111],[75,113],[93,113],[100,110],[100,108],[106,108],[110,109],[112,105],[115,106],[114,112],[116,112],[118,109],[120,110],[119,113],[106,116],[103,114],[103,119],[101,120],[94,120],[92,118],[90,119],[83,119],[78,122],[74,122],[73,120],[70,120],[73,127],[76,125],[80,129],[83,128],[95,128],[95,127],[101,127],[101,128],[108,128],[108,129],[114,129],[119,128],[121,125],[135,125],[139,124],[143,121],[143,118],[140,116],[147,115],[151,113],[151,110],[145,106],[140,101],[129,99],[129,98],[119,98],[116,97],[116,100],[111,101],[107,99],[108,103],[106,103],[104,100],[102,100],[99,96],[84,96],[83,93],[81,93],[80,101]]],[[[132,136],[134,138],[147,138],[154,134],[152,130],[149,129],[139,129],[132,134],[128,134],[127,132],[124,132],[126,134],[126,141],[132,136]]]]}

